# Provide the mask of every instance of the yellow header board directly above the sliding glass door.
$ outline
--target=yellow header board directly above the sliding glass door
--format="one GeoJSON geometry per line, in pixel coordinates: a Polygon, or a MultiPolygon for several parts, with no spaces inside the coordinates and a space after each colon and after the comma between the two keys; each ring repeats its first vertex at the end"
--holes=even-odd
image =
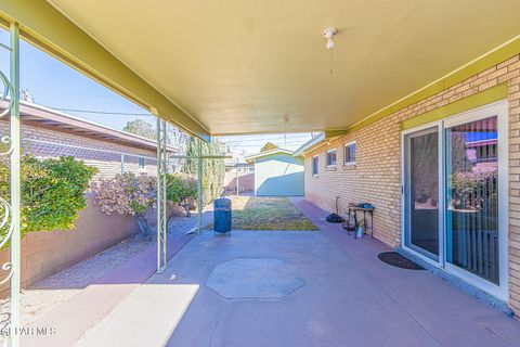
{"type": "Polygon", "coordinates": [[[507,99],[509,87],[502,83],[496,87],[460,99],[442,107],[426,112],[416,117],[401,121],[401,129],[412,129],[431,121],[440,120],[471,108],[483,106],[495,101],[507,99]]]}

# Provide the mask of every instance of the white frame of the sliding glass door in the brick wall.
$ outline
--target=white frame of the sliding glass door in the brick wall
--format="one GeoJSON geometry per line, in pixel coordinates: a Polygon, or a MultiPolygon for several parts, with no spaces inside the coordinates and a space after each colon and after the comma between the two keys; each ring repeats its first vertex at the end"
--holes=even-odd
{"type": "Polygon", "coordinates": [[[494,102],[481,107],[472,108],[441,120],[428,123],[419,127],[407,129],[401,132],[401,245],[404,249],[431,264],[434,267],[442,268],[445,271],[458,277],[463,281],[481,288],[482,291],[497,297],[500,300],[508,301],[508,237],[509,237],[509,132],[508,132],[508,104],[507,100],[494,102]],[[498,130],[498,254],[499,254],[499,285],[486,281],[476,274],[472,274],[457,266],[446,261],[446,147],[445,130],[446,128],[484,119],[497,117],[498,130]],[[410,156],[407,155],[407,141],[410,134],[420,132],[429,128],[438,127],[439,133],[439,261],[425,256],[412,247],[406,246],[406,224],[408,221],[407,206],[407,170],[410,156]]]}

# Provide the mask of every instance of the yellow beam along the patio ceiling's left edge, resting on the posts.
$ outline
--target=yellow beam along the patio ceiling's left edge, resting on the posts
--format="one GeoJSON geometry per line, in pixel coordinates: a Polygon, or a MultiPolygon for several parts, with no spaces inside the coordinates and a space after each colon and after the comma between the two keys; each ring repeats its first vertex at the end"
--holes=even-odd
{"type": "Polygon", "coordinates": [[[120,95],[155,112],[204,140],[209,130],[143,80],[75,23],[43,0],[6,0],[0,9],[0,25],[16,22],[25,40],[120,95]]]}

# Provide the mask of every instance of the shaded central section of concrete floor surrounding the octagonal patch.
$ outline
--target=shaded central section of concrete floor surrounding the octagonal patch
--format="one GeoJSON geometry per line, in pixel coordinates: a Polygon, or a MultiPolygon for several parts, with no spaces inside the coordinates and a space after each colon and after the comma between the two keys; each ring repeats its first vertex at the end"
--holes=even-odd
{"type": "Polygon", "coordinates": [[[322,232],[208,233],[172,260],[178,283],[202,286],[168,346],[440,346],[322,232]],[[237,258],[284,259],[306,285],[270,301],[224,299],[204,286],[214,266],[237,258]]]}

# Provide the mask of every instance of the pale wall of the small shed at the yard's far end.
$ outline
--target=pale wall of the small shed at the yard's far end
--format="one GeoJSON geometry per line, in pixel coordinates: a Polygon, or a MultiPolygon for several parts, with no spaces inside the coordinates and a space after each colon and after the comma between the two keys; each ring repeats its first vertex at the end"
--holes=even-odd
{"type": "Polygon", "coordinates": [[[303,159],[290,154],[272,154],[256,159],[255,194],[260,196],[303,195],[303,159]]]}

